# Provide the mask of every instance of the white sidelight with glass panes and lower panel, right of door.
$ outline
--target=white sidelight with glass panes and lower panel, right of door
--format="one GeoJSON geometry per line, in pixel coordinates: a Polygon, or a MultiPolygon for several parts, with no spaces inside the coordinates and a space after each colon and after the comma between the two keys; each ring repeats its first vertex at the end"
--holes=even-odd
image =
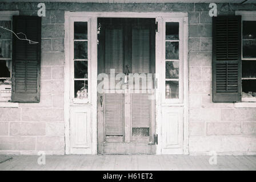
{"type": "Polygon", "coordinates": [[[162,49],[161,61],[156,63],[159,79],[157,119],[159,146],[157,154],[185,154],[184,131],[187,103],[187,65],[184,18],[159,19],[161,32],[158,40],[162,49]],[[164,71],[163,71],[164,70],[164,71]]]}

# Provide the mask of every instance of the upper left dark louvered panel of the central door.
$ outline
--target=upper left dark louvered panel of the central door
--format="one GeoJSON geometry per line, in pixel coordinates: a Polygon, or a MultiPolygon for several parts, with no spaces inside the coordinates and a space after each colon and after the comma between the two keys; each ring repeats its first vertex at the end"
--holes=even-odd
{"type": "Polygon", "coordinates": [[[123,29],[106,29],[105,32],[105,72],[123,73],[123,29]]]}

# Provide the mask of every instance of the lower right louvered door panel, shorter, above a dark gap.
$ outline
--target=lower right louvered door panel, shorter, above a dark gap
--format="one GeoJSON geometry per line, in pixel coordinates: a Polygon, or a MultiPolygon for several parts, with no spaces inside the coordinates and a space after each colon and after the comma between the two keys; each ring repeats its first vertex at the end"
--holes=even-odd
{"type": "Polygon", "coordinates": [[[132,127],[150,127],[150,94],[131,94],[132,127]]]}

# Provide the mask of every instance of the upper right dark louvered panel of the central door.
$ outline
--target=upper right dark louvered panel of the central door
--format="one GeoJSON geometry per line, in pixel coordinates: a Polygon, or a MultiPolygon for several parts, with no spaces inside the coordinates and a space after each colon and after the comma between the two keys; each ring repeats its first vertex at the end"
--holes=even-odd
{"type": "Polygon", "coordinates": [[[133,73],[150,73],[150,30],[132,30],[132,60],[133,73]]]}

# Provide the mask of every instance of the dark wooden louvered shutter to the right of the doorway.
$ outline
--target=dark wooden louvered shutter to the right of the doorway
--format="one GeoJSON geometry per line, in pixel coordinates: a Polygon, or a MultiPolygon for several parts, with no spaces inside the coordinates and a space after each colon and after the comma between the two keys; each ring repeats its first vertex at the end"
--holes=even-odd
{"type": "Polygon", "coordinates": [[[241,16],[213,17],[213,102],[241,101],[241,16]]]}

